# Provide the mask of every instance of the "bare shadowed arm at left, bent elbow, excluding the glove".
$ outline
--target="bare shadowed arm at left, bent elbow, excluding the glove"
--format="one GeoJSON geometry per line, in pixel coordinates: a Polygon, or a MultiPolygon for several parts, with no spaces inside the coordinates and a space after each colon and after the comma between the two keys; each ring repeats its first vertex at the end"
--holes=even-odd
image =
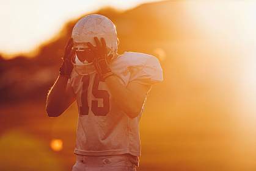
{"type": "Polygon", "coordinates": [[[50,89],[46,100],[46,112],[49,117],[60,116],[75,101],[73,89],[67,82],[67,77],[59,75],[50,89]]]}

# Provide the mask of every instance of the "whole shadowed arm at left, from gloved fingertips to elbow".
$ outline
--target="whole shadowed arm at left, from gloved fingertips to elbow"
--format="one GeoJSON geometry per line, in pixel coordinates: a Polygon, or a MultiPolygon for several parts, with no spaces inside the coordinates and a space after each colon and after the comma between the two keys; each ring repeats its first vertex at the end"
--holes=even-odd
{"type": "Polygon", "coordinates": [[[73,89],[68,84],[68,79],[70,79],[71,72],[73,71],[73,64],[70,58],[75,55],[72,47],[73,40],[70,39],[65,48],[63,63],[60,67],[60,75],[48,93],[46,112],[49,117],[60,116],[75,101],[73,89]]]}

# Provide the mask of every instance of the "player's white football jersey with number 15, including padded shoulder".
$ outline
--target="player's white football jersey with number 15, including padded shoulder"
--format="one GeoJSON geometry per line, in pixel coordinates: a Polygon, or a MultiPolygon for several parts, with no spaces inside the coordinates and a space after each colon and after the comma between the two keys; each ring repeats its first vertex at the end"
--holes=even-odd
{"type": "MultiPolygon", "coordinates": [[[[125,52],[110,67],[125,86],[130,82],[151,85],[163,80],[159,61],[152,55],[125,52]]],[[[75,153],[140,156],[139,120],[143,108],[139,116],[128,117],[115,104],[108,86],[98,79],[97,73],[78,75],[73,71],[68,83],[76,94],[79,109],[75,153]]]]}

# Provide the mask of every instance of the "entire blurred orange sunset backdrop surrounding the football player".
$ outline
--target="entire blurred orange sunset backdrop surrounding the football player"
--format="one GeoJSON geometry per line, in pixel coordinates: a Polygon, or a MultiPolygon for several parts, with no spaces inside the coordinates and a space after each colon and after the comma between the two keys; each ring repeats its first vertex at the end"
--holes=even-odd
{"type": "Polygon", "coordinates": [[[2,1],[0,170],[68,171],[78,110],[45,112],[65,43],[89,13],[119,53],[161,61],[141,119],[140,171],[256,170],[256,1],[2,1]]]}

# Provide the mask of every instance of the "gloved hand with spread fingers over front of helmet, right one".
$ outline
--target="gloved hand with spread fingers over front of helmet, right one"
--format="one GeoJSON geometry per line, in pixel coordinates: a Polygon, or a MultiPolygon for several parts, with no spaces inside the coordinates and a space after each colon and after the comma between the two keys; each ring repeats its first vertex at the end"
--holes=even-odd
{"type": "Polygon", "coordinates": [[[109,68],[109,59],[112,58],[112,54],[108,55],[108,49],[104,38],[98,40],[98,38],[95,37],[94,40],[96,46],[93,46],[91,43],[87,43],[87,46],[93,52],[93,64],[100,76],[100,79],[105,80],[110,75],[113,75],[113,72],[109,68]]]}

